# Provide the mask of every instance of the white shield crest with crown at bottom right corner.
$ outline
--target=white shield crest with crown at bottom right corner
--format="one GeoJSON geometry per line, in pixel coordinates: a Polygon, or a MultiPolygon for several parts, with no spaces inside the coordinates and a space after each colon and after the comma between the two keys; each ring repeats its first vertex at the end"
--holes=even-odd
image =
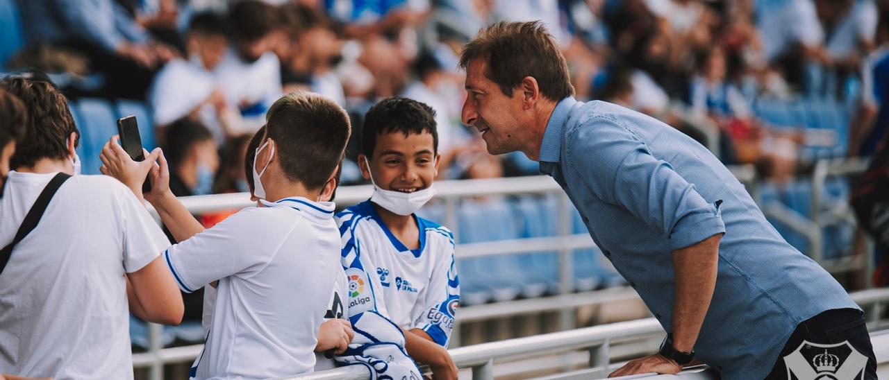
{"type": "Polygon", "coordinates": [[[868,357],[855,351],[849,341],[816,344],[803,341],[796,351],[784,357],[787,376],[799,380],[852,380],[864,378],[868,357]]]}

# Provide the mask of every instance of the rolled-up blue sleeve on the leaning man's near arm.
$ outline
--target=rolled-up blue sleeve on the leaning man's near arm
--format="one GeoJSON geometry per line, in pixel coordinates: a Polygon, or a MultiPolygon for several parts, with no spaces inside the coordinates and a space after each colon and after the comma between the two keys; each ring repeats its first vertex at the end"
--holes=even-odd
{"type": "Polygon", "coordinates": [[[645,141],[607,116],[579,126],[567,141],[566,164],[597,197],[628,210],[683,249],[725,233],[721,201],[711,204],[694,185],[657,159],[645,141]]]}

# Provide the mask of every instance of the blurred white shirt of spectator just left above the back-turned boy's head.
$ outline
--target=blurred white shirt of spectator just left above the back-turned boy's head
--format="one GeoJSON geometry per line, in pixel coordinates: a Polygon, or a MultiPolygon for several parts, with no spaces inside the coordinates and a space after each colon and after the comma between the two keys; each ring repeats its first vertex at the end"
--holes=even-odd
{"type": "Polygon", "coordinates": [[[241,111],[244,131],[259,130],[268,107],[281,97],[281,62],[275,53],[266,51],[260,59],[247,62],[229,48],[213,73],[228,107],[241,111]]]}

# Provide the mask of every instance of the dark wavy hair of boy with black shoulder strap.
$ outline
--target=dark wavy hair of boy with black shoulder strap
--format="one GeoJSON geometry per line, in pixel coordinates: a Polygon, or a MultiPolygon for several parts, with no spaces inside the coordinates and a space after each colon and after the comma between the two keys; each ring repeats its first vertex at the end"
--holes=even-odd
{"type": "Polygon", "coordinates": [[[68,100],[52,83],[13,77],[0,81],[0,89],[18,97],[28,115],[24,135],[16,139],[11,169],[33,166],[43,158],[67,157],[68,136],[72,132],[76,134],[74,145],[77,146],[80,131],[71,117],[68,100]]]}

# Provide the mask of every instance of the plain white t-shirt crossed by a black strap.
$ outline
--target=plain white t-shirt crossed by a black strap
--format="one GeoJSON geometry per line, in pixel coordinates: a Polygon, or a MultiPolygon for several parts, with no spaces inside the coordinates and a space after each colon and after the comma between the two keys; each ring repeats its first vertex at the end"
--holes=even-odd
{"type": "MultiPolygon", "coordinates": [[[[56,173],[11,171],[0,245],[56,173]]],[[[124,273],[169,246],[145,207],[105,176],[68,178],[0,275],[0,373],[132,379],[124,273]]]]}

